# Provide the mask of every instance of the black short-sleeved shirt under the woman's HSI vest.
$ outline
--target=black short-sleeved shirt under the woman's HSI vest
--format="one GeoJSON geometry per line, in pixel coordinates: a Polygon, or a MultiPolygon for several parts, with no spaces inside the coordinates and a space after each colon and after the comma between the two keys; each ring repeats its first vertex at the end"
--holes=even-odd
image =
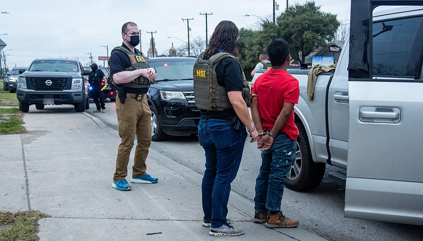
{"type": "MultiPolygon", "coordinates": [[[[234,58],[224,58],[216,67],[216,76],[218,84],[224,86],[226,92],[242,91],[242,84],[244,78],[242,75],[242,68],[239,62],[234,58]]],[[[223,111],[206,111],[200,110],[201,118],[214,118],[231,120],[232,116],[237,115],[233,108],[225,109],[223,111]]]]}

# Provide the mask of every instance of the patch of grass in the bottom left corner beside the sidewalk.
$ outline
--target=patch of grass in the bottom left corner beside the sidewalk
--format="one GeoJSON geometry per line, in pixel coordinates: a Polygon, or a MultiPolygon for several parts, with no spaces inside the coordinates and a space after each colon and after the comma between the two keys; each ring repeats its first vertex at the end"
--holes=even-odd
{"type": "Polygon", "coordinates": [[[48,215],[39,211],[0,212],[0,224],[12,224],[0,231],[0,241],[38,240],[37,221],[44,217],[48,215]]]}

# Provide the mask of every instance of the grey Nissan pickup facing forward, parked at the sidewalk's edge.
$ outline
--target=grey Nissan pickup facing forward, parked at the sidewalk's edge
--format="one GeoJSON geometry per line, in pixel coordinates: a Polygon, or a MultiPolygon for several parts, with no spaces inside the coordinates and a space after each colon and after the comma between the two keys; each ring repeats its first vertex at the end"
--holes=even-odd
{"type": "Polygon", "coordinates": [[[28,112],[35,104],[44,109],[46,104],[73,104],[75,111],[90,108],[88,80],[82,64],[76,59],[35,59],[28,71],[19,70],[16,96],[19,110],[28,112]]]}

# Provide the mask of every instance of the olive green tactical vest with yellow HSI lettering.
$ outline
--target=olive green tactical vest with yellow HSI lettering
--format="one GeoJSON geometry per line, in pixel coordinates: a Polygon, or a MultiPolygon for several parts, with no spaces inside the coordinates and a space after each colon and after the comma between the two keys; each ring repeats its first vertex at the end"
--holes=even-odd
{"type": "MultiPolygon", "coordinates": [[[[225,87],[218,84],[216,66],[222,59],[235,59],[235,56],[222,52],[213,55],[208,60],[204,60],[203,58],[204,53],[198,56],[193,69],[195,106],[207,111],[222,111],[233,108],[231,102],[229,101],[225,87]]],[[[251,93],[245,77],[242,96],[244,101],[247,103],[247,106],[250,106],[251,93]]]]}

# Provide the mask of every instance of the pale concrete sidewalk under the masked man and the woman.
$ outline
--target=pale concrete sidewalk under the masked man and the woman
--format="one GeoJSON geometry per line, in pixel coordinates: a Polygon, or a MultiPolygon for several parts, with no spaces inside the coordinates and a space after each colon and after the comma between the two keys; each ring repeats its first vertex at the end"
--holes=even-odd
{"type": "Polygon", "coordinates": [[[39,221],[40,240],[325,240],[301,222],[289,229],[253,223],[253,203],[234,192],[228,217],[245,233],[210,236],[201,226],[201,174],[150,149],[148,172],[159,182],[117,191],[117,131],[85,112],[32,110],[24,115],[27,134],[0,136],[0,210],[50,215],[39,221]]]}

